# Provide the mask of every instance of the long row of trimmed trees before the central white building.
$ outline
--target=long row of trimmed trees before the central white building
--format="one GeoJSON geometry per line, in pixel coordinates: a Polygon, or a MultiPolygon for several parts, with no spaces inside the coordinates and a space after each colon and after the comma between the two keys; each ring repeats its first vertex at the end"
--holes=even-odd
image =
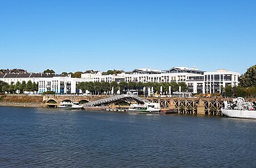
{"type": "Polygon", "coordinates": [[[102,94],[102,93],[108,93],[108,91],[111,91],[112,88],[114,89],[114,93],[116,93],[118,90],[123,91],[125,87],[153,87],[153,90],[155,93],[160,93],[160,87],[162,86],[163,92],[169,91],[169,86],[171,86],[171,91],[178,91],[179,86],[181,86],[181,91],[187,91],[188,86],[184,82],[176,83],[157,83],[157,82],[120,82],[117,83],[115,81],[109,83],[109,82],[80,82],[79,85],[77,85],[77,89],[81,89],[83,93],[85,93],[86,90],[90,91],[90,93],[94,94],[102,94]]]}

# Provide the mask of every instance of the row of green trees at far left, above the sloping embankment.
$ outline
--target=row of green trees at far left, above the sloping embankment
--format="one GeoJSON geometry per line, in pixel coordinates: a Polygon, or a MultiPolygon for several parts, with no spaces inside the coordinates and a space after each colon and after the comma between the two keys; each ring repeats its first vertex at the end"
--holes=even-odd
{"type": "Polygon", "coordinates": [[[19,81],[14,83],[11,82],[11,84],[9,85],[6,82],[0,81],[0,92],[1,93],[10,93],[10,94],[14,94],[16,93],[16,91],[18,91],[19,94],[23,94],[24,91],[29,91],[30,93],[33,92],[37,92],[38,91],[38,83],[32,82],[32,81],[28,81],[26,83],[26,81],[22,81],[22,83],[20,83],[19,81]]]}

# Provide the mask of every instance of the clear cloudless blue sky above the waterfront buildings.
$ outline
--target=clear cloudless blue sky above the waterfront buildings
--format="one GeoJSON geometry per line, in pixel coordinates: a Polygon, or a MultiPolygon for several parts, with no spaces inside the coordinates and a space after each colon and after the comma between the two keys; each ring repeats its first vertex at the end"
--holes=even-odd
{"type": "Polygon", "coordinates": [[[245,73],[255,64],[255,0],[0,0],[0,69],[245,73]]]}

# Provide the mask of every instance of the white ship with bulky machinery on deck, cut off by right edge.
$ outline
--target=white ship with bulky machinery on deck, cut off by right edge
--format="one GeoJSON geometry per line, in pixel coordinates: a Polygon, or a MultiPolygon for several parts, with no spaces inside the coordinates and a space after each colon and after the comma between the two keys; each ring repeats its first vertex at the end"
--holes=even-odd
{"type": "Polygon", "coordinates": [[[255,102],[245,102],[243,98],[233,99],[232,103],[224,102],[225,108],[221,111],[225,116],[244,118],[244,119],[256,119],[255,102]]]}

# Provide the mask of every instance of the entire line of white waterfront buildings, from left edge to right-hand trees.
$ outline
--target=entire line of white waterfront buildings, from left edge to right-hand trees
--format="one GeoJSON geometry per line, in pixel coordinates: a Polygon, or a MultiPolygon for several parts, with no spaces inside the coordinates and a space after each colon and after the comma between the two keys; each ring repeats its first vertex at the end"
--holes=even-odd
{"type": "Polygon", "coordinates": [[[173,67],[168,70],[134,69],[130,73],[102,75],[99,71],[89,70],[81,74],[82,78],[71,78],[69,75],[23,73],[0,74],[0,80],[11,83],[32,81],[38,83],[39,94],[44,91],[55,91],[57,94],[81,93],[77,89],[80,82],[185,82],[192,93],[221,93],[221,87],[237,86],[240,73],[228,70],[204,72],[194,68],[173,67]]]}

